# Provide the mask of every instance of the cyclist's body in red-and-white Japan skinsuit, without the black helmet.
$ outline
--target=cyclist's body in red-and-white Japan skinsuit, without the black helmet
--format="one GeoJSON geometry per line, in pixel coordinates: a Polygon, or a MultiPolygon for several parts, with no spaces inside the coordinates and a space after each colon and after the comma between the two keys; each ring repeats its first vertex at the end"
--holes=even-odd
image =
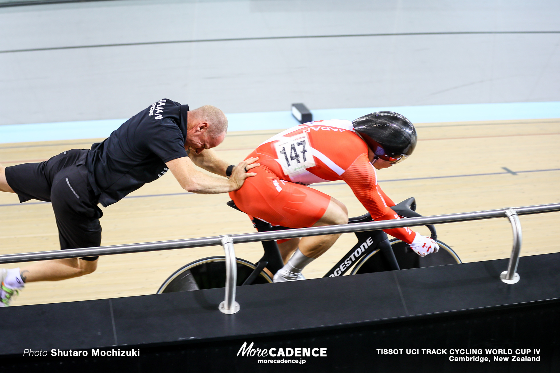
{"type": "MultiPolygon", "coordinates": [[[[297,125],[260,144],[249,157],[259,157],[257,175],[248,178],[241,189],[230,192],[230,197],[241,211],[272,225],[301,228],[347,223],[348,213],[341,202],[306,186],[333,180],[346,181],[374,220],[399,218],[390,208],[395,203],[377,184],[375,172],[375,168],[382,169],[391,164],[374,159],[374,152],[354,131],[349,120],[318,120],[297,125]]],[[[417,236],[408,227],[385,232],[409,244],[417,236]]],[[[296,254],[300,255],[299,262],[304,262],[305,267],[328,250],[338,236],[282,240],[278,241],[279,249],[286,263],[299,246],[298,251],[303,257],[298,251],[296,254]]],[[[301,271],[296,274],[298,276],[290,279],[303,278],[301,271]]]]}

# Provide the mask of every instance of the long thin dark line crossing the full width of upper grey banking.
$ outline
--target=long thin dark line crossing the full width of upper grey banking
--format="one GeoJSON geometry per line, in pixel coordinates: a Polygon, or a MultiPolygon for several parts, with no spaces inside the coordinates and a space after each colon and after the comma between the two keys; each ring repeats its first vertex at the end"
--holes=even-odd
{"type": "Polygon", "coordinates": [[[250,40],[281,40],[281,39],[328,39],[328,38],[362,38],[366,36],[418,36],[418,35],[497,35],[497,34],[560,34],[560,31],[451,31],[451,32],[391,32],[388,34],[343,34],[343,35],[299,35],[299,36],[260,36],[255,38],[221,38],[221,39],[192,39],[144,41],[141,43],[115,43],[73,46],[53,46],[50,48],[29,48],[0,50],[0,53],[41,52],[44,50],[104,48],[108,46],[160,45],[184,43],[212,43],[213,41],[250,41],[250,40]]]}

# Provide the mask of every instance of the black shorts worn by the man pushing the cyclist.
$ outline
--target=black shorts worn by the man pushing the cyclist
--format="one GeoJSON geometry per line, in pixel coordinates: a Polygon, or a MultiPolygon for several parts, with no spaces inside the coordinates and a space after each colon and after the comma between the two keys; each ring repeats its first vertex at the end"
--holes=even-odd
{"type": "Polygon", "coordinates": [[[97,207],[97,196],[87,181],[87,152],[72,149],[48,161],[6,167],[6,181],[20,202],[52,202],[60,249],[101,246],[99,218],[103,212],[97,207]]]}

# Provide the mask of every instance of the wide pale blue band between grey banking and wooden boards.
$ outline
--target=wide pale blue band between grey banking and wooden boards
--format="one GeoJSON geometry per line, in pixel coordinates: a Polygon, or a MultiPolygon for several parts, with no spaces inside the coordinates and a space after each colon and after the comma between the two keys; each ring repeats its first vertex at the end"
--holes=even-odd
{"type": "MultiPolygon", "coordinates": [[[[382,106],[376,108],[312,109],[314,119],[354,119],[374,111],[396,111],[412,123],[477,122],[560,118],[560,101],[494,102],[491,104],[448,104],[382,106]]],[[[228,131],[278,130],[299,122],[290,110],[226,114],[228,131]]],[[[62,141],[109,137],[128,118],[77,120],[72,122],[0,125],[0,142],[62,141]]]]}

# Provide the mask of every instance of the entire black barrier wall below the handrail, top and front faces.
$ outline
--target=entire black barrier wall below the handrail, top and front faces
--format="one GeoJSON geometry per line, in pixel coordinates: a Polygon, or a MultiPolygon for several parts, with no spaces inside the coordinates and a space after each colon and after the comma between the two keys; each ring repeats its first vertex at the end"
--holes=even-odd
{"type": "Polygon", "coordinates": [[[0,371],[557,373],[560,253],[506,264],[7,307],[0,371]]]}

